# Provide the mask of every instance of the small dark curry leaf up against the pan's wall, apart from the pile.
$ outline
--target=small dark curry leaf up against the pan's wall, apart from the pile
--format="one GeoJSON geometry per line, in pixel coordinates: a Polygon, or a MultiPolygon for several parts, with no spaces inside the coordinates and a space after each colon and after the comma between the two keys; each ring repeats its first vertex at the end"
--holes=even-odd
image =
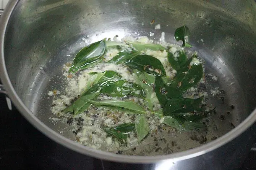
{"type": "Polygon", "coordinates": [[[175,30],[174,37],[176,41],[183,41],[183,47],[191,47],[190,44],[187,44],[190,31],[186,25],[179,27],[175,30]]]}

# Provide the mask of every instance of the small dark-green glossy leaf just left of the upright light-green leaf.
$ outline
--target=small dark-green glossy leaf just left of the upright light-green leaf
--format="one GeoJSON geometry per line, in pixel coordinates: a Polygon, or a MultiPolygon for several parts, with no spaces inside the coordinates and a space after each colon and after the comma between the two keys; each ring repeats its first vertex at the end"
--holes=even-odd
{"type": "Polygon", "coordinates": [[[128,134],[132,132],[134,128],[135,128],[134,123],[125,123],[115,127],[104,128],[104,130],[106,133],[108,133],[113,137],[116,137],[121,140],[126,140],[128,137],[128,134]]]}

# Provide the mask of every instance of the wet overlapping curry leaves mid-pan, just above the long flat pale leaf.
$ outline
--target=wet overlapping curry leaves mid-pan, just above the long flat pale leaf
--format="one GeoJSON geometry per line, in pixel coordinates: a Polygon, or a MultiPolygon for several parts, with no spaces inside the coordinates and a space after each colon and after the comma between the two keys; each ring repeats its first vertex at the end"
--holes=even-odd
{"type": "Polygon", "coordinates": [[[91,106],[87,103],[87,99],[96,99],[99,94],[107,94],[112,97],[124,97],[126,95],[134,95],[136,97],[145,97],[142,87],[135,83],[129,83],[121,80],[122,76],[112,70],[103,73],[90,73],[92,76],[81,94],[81,97],[75,100],[65,112],[72,112],[75,115],[83,113],[91,106]]]}

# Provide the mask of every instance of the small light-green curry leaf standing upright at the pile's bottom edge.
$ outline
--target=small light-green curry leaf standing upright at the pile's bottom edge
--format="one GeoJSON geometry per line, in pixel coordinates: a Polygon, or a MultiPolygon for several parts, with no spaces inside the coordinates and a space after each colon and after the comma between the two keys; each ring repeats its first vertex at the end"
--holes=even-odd
{"type": "Polygon", "coordinates": [[[144,115],[138,114],[134,121],[138,141],[143,140],[149,133],[149,125],[144,115]]]}

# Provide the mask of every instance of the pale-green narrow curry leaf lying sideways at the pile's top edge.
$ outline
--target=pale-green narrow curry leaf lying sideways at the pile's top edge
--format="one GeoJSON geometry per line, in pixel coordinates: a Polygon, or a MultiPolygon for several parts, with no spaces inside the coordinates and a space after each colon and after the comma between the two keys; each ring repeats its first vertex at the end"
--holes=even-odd
{"type": "Polygon", "coordinates": [[[161,46],[160,44],[145,44],[145,43],[139,43],[139,42],[130,42],[128,41],[128,44],[132,47],[135,48],[137,51],[146,51],[147,49],[151,49],[152,51],[164,51],[165,48],[161,46]]]}

